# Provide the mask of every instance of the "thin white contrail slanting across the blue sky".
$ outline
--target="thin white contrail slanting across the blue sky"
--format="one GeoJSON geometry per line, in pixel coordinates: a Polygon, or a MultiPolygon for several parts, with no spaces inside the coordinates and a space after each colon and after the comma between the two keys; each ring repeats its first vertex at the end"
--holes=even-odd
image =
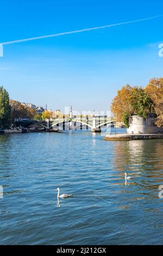
{"type": "Polygon", "coordinates": [[[1,45],[9,45],[9,44],[15,44],[17,42],[26,42],[26,41],[32,41],[32,40],[37,40],[37,39],[42,39],[42,38],[52,38],[52,37],[60,36],[60,35],[76,34],[76,33],[81,33],[81,32],[85,32],[85,31],[92,31],[92,30],[96,30],[96,29],[109,28],[109,27],[115,27],[115,26],[120,26],[120,25],[127,25],[127,24],[130,24],[130,23],[135,23],[135,22],[139,22],[139,21],[152,20],[152,19],[162,17],[162,16],[163,15],[159,15],[159,16],[153,16],[153,17],[149,17],[149,18],[145,18],[145,19],[141,19],[141,20],[115,23],[115,24],[101,26],[101,27],[84,28],[84,29],[81,29],[81,30],[78,30],[78,31],[70,31],[70,32],[64,32],[64,33],[59,33],[59,34],[43,35],[43,36],[38,36],[38,37],[35,37],[35,38],[27,38],[27,39],[21,39],[21,40],[9,41],[9,42],[2,42],[1,45]]]}

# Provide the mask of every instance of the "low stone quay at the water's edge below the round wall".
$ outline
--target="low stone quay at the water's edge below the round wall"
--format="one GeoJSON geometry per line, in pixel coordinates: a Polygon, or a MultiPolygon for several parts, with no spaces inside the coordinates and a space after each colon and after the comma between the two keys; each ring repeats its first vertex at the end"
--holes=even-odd
{"type": "Polygon", "coordinates": [[[106,135],[105,141],[130,141],[137,139],[163,139],[163,134],[116,134],[106,135]]]}

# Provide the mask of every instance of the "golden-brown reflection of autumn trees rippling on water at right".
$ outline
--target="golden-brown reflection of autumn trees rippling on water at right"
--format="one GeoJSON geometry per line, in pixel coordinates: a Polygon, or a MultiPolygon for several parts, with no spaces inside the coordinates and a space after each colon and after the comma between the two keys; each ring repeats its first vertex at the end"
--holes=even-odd
{"type": "Polygon", "coordinates": [[[158,190],[158,184],[163,182],[163,140],[117,141],[113,149],[116,172],[137,173],[141,185],[158,190]]]}

